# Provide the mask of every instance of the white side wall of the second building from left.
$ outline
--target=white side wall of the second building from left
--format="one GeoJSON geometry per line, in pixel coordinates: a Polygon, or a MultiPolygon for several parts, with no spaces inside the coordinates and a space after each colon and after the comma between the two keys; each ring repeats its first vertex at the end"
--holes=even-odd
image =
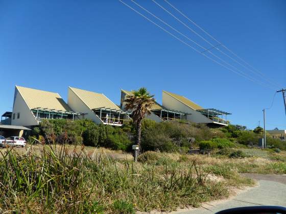
{"type": "MultiPolygon", "coordinates": [[[[74,112],[87,113],[84,115],[84,118],[90,119],[97,124],[103,124],[103,121],[94,114],[94,112],[89,109],[88,106],[70,88],[68,88],[67,104],[74,112]]],[[[82,116],[79,116],[79,118],[81,119],[82,116]]]]}

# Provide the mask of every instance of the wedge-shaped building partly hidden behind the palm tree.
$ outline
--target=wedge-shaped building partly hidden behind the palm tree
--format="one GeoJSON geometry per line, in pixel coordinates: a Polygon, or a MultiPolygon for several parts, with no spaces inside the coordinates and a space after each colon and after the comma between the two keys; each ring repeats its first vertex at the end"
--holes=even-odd
{"type": "MultiPolygon", "coordinates": [[[[121,109],[125,108],[125,98],[127,95],[131,95],[131,91],[121,90],[121,109]]],[[[167,109],[165,106],[160,105],[158,102],[149,109],[151,114],[147,115],[146,118],[154,120],[156,122],[162,122],[164,120],[179,120],[186,119],[186,113],[181,111],[176,111],[172,109],[167,109]]]]}

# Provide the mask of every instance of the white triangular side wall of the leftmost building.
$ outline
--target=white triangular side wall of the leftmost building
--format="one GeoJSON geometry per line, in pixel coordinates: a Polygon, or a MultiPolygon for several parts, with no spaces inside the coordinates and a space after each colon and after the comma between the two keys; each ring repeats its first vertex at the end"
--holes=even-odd
{"type": "MultiPolygon", "coordinates": [[[[17,91],[17,89],[15,89],[17,91]]],[[[30,108],[26,104],[25,100],[22,98],[20,93],[17,91],[16,98],[14,100],[13,112],[11,118],[11,125],[22,125],[22,126],[32,126],[38,125],[38,122],[31,112],[30,108]],[[20,118],[17,119],[17,113],[20,113],[20,118]],[[13,120],[13,115],[15,114],[15,119],[13,120]]]]}

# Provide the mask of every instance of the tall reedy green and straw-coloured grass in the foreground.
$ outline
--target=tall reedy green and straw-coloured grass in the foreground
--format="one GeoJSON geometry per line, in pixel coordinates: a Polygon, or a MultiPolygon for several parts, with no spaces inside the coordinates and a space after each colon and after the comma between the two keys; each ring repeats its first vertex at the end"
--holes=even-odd
{"type": "Polygon", "coordinates": [[[196,161],[115,161],[84,147],[69,152],[64,145],[46,145],[40,153],[8,149],[2,156],[0,212],[134,213],[198,206],[228,195],[196,161]]]}

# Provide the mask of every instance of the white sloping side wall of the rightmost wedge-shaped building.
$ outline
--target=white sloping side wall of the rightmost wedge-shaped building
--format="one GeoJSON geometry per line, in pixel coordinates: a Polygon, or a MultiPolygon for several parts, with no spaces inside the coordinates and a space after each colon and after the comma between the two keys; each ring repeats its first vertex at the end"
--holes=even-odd
{"type": "Polygon", "coordinates": [[[190,108],[186,104],[180,102],[176,98],[170,96],[169,94],[163,92],[162,104],[167,109],[173,109],[176,111],[185,112],[191,115],[186,116],[186,120],[194,123],[213,123],[212,120],[208,119],[206,116],[197,112],[196,110],[190,108]]]}

